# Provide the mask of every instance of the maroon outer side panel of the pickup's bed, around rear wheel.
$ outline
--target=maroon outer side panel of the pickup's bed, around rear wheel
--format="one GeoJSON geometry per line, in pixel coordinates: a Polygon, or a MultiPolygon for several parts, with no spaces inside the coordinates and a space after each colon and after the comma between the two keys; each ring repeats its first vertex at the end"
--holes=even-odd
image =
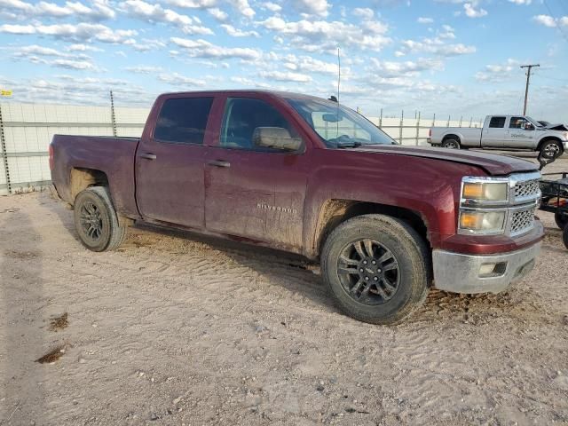
{"type": "Polygon", "coordinates": [[[139,138],[54,135],[53,185],[59,196],[72,204],[71,170],[100,170],[106,176],[114,208],[125,217],[138,216],[135,198],[134,159],[139,138]],[[71,166],[73,164],[73,167],[71,166]]]}

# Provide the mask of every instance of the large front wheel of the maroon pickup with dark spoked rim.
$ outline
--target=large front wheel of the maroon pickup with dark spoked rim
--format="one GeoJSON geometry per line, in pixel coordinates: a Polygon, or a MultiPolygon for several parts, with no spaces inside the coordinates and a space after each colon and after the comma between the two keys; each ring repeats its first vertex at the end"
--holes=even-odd
{"type": "Polygon", "coordinates": [[[428,294],[429,271],[430,256],[420,235],[384,215],[343,222],[327,237],[321,253],[322,276],[335,303],[352,318],[371,324],[396,324],[421,306],[428,294]],[[359,254],[357,245],[366,256],[359,254]],[[373,256],[367,256],[369,251],[373,256]],[[371,261],[377,262],[375,266],[371,261]]]}

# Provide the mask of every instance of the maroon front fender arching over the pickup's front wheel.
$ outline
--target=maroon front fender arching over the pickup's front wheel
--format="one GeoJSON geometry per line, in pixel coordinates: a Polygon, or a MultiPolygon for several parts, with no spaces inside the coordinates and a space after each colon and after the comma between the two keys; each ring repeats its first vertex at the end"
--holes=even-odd
{"type": "Polygon", "coordinates": [[[461,177],[485,176],[476,167],[397,154],[319,150],[314,155],[304,210],[304,250],[317,256],[318,230],[330,200],[362,201],[413,211],[427,227],[432,248],[456,232],[461,177]],[[342,155],[343,154],[343,155],[342,155]]]}

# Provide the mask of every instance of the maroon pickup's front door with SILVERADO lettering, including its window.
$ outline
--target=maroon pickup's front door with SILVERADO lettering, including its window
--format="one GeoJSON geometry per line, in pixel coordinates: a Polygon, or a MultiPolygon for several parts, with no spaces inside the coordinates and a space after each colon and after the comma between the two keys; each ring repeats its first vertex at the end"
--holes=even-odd
{"type": "Polygon", "coordinates": [[[298,152],[262,148],[253,142],[258,127],[300,136],[269,99],[227,98],[205,166],[207,229],[299,251],[309,167],[306,138],[298,152]]]}

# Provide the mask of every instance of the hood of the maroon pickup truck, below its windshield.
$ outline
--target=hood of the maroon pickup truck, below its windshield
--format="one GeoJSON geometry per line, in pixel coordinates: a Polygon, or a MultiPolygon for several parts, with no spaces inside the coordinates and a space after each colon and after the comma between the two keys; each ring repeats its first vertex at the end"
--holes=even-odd
{"type": "Polygon", "coordinates": [[[477,166],[492,176],[509,175],[520,171],[538,170],[533,162],[509,155],[485,154],[472,151],[458,151],[444,148],[430,148],[422,146],[383,145],[360,146],[357,151],[367,153],[383,153],[396,155],[409,155],[412,157],[431,158],[444,162],[461,162],[477,166]]]}

